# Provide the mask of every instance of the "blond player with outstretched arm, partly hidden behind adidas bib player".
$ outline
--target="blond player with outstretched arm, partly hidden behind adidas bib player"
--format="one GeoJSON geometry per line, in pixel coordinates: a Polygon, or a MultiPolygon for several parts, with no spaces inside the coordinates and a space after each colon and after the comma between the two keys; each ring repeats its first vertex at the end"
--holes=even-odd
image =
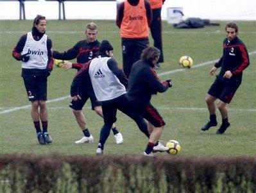
{"type": "MultiPolygon", "coordinates": [[[[78,71],[83,67],[84,63],[87,63],[89,60],[94,58],[99,50],[99,41],[97,40],[98,35],[98,27],[93,22],[87,24],[85,28],[85,40],[80,40],[74,47],[68,49],[64,53],[59,53],[58,51],[53,51],[53,58],[60,60],[72,60],[76,58],[77,63],[66,62],[63,67],[64,69],[77,69],[78,71]]],[[[92,105],[92,110],[94,110],[98,115],[103,117],[101,103],[97,101],[94,90],[90,81],[85,81],[83,89],[81,89],[80,97],[81,100],[74,101],[72,100],[70,103],[70,107],[73,109],[74,117],[76,117],[76,121],[83,131],[83,137],[80,140],[77,140],[76,144],[83,144],[86,142],[93,142],[93,137],[90,135],[90,131],[87,128],[87,121],[85,119],[85,115],[83,115],[82,109],[85,105],[87,99],[90,98],[90,103],[92,105]]],[[[74,88],[74,81],[71,84],[71,92],[74,88]]],[[[112,126],[112,131],[114,133],[115,142],[117,144],[121,144],[123,142],[123,136],[115,125],[112,126]]]]}

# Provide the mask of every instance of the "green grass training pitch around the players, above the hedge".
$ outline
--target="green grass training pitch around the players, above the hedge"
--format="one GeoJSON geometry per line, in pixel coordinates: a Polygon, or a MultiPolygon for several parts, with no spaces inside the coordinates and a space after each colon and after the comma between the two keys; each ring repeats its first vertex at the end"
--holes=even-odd
{"type": "MultiPolygon", "coordinates": [[[[53,40],[53,49],[65,51],[84,38],[84,26],[89,21],[49,21],[47,35],[53,40]]],[[[121,67],[121,41],[114,21],[94,21],[99,26],[98,39],[110,40],[114,57],[121,67]]],[[[214,21],[219,22],[219,21],[214,21]]],[[[214,80],[209,70],[221,56],[225,38],[225,23],[202,29],[174,29],[163,23],[165,62],[158,74],[162,80],[171,78],[173,88],[152,99],[166,121],[161,139],[178,140],[180,155],[249,155],[256,152],[256,26],[255,21],[238,21],[239,37],[250,53],[250,66],[244,71],[243,83],[228,106],[230,128],[224,135],[216,135],[217,128],[202,132],[200,128],[209,114],[205,94],[214,80]],[[194,60],[191,69],[180,69],[178,58],[189,55],[194,60]]],[[[49,132],[53,144],[40,146],[31,122],[30,102],[21,78],[21,63],[12,58],[12,49],[22,34],[30,31],[32,21],[0,21],[0,145],[1,154],[60,153],[65,155],[94,155],[103,119],[90,110],[87,102],[83,112],[94,143],[75,145],[81,137],[73,113],[69,109],[69,88],[76,71],[55,67],[48,78],[49,132]]],[[[151,41],[152,45],[152,41],[151,41]]],[[[217,112],[218,122],[221,122],[217,112]]],[[[117,145],[111,133],[105,154],[141,154],[147,139],[135,123],[122,113],[117,115],[117,128],[124,136],[124,144],[117,145]]]]}

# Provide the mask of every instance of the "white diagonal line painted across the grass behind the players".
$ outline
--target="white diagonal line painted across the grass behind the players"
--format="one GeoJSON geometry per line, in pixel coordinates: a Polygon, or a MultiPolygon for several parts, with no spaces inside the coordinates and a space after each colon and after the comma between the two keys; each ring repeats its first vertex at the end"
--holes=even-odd
{"type": "MultiPolygon", "coordinates": [[[[256,51],[252,51],[249,53],[249,55],[254,55],[256,53],[256,51]]],[[[208,65],[210,63],[214,63],[214,62],[217,62],[218,60],[211,60],[211,61],[208,61],[208,62],[203,62],[203,63],[199,63],[197,65],[193,65],[191,68],[198,68],[198,67],[202,67],[202,66],[205,66],[205,65],[208,65]]],[[[167,72],[162,72],[160,74],[158,74],[158,76],[164,76],[166,74],[173,74],[173,73],[176,73],[176,72],[183,72],[183,71],[186,71],[187,69],[176,69],[176,70],[173,70],[173,71],[167,71],[167,72]]],[[[67,99],[69,98],[69,96],[64,96],[64,97],[59,97],[59,98],[56,98],[56,99],[51,99],[49,101],[47,101],[47,103],[53,103],[53,102],[56,102],[56,101],[62,101],[64,99],[67,99]]],[[[10,108],[8,110],[3,110],[0,112],[0,115],[1,114],[4,114],[4,113],[10,113],[10,112],[13,112],[13,111],[16,111],[16,110],[21,110],[21,109],[25,109],[25,108],[30,108],[31,105],[25,105],[25,106],[19,106],[19,107],[13,107],[13,108],[10,108]]],[[[252,111],[254,111],[252,109],[252,111]]]]}

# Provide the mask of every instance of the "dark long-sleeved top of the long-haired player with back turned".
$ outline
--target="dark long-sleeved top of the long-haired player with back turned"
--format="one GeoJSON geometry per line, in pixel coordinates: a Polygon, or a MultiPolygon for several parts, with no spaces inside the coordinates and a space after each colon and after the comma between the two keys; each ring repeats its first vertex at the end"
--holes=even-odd
{"type": "Polygon", "coordinates": [[[154,65],[146,60],[139,60],[132,66],[128,81],[128,100],[135,105],[149,105],[152,94],[165,92],[167,81],[159,80],[154,65]]]}

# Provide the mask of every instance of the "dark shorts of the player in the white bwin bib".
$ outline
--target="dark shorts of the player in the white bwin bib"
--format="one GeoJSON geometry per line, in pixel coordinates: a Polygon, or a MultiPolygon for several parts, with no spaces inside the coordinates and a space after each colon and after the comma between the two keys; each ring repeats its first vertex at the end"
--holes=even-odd
{"type": "Polygon", "coordinates": [[[24,85],[29,101],[47,100],[47,77],[46,76],[25,76],[24,85]]]}

